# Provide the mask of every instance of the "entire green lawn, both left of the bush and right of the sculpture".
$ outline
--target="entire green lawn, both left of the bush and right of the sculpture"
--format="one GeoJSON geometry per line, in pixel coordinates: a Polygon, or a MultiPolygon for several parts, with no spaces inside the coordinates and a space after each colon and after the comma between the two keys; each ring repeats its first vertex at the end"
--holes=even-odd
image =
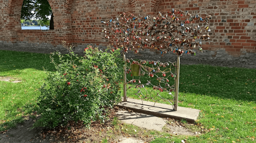
{"type": "MultiPolygon", "coordinates": [[[[24,120],[22,116],[36,111],[36,98],[40,94],[38,89],[47,76],[43,67],[50,72],[55,69],[49,56],[0,50],[0,76],[22,81],[0,81],[0,131],[15,127],[24,120]]],[[[254,142],[255,73],[256,69],[181,65],[179,106],[199,109],[201,112],[196,124],[211,130],[197,137],[187,137],[187,142],[254,142]]],[[[145,78],[141,77],[141,81],[145,83],[145,78]]],[[[152,79],[154,82],[157,84],[158,81],[152,79]]],[[[167,93],[161,94],[172,99],[167,93]]],[[[138,96],[134,98],[138,99],[138,96]]],[[[182,139],[185,138],[156,138],[152,142],[180,142],[182,139]]]]}

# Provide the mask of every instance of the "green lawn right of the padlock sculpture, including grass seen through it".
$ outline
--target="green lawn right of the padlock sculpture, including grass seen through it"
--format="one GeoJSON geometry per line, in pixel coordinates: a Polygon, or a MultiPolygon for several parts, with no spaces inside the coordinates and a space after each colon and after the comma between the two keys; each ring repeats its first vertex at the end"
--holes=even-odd
{"type": "MultiPolygon", "coordinates": [[[[199,109],[200,114],[196,124],[203,130],[209,131],[197,137],[188,137],[186,140],[188,142],[254,142],[253,139],[256,136],[255,73],[256,69],[181,65],[179,106],[199,109]]],[[[149,76],[146,76],[144,79],[141,77],[142,83],[151,80],[153,85],[159,84],[155,76],[149,79],[149,76]]],[[[130,74],[127,75],[127,79],[132,78],[130,74]]],[[[147,91],[153,89],[152,86],[146,88],[147,91]]],[[[135,88],[130,88],[127,95],[139,99],[137,95],[132,94],[137,91],[135,88]]],[[[142,90],[142,93],[145,94],[145,90],[142,90]]],[[[159,90],[155,90],[155,93],[159,93],[159,90]]],[[[166,99],[173,99],[168,93],[160,92],[160,95],[166,99]]],[[[169,104],[164,100],[158,102],[169,104]]],[[[172,140],[159,138],[153,142],[172,140]]]]}

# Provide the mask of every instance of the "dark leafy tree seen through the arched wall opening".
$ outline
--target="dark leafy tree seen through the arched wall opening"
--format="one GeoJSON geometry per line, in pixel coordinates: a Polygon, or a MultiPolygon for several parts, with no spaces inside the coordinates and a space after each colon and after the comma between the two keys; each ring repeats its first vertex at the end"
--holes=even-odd
{"type": "Polygon", "coordinates": [[[50,4],[47,0],[24,0],[21,8],[21,19],[40,19],[38,24],[50,25],[54,29],[53,14],[50,4]],[[49,21],[48,16],[51,15],[49,21]]]}

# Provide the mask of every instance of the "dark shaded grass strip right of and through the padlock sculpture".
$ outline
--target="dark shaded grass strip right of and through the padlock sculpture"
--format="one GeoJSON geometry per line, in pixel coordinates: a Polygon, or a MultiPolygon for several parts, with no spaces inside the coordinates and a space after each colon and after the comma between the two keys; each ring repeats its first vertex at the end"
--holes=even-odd
{"type": "MultiPolygon", "coordinates": [[[[150,65],[147,65],[150,67],[150,65]]],[[[172,69],[174,73],[175,69],[172,69]]],[[[234,99],[241,101],[256,101],[256,69],[247,68],[227,68],[209,65],[185,65],[180,66],[180,93],[194,93],[198,95],[216,96],[220,99],[234,99]]],[[[166,77],[169,73],[166,73],[166,77]]],[[[158,73],[160,75],[160,73],[158,73]]],[[[160,75],[160,77],[162,77],[160,75]]],[[[127,79],[141,80],[142,84],[147,80],[154,86],[159,85],[156,76],[131,76],[127,74],[127,79]]],[[[169,78],[168,78],[169,79],[169,78]]],[[[169,85],[174,84],[173,77],[169,79],[169,85]]],[[[136,83],[138,84],[138,83],[136,83]]],[[[161,83],[162,84],[162,83],[161,83]]],[[[161,85],[164,87],[164,85],[161,85]]],[[[146,87],[146,86],[145,86],[146,87]]],[[[153,86],[147,86],[152,88],[153,86]]],[[[137,90],[135,91],[137,93],[137,90]]]]}

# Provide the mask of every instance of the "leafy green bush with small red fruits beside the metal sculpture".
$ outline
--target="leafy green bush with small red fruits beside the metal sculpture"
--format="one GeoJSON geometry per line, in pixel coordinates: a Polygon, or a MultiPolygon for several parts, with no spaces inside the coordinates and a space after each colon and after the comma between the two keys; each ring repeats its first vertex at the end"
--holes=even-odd
{"type": "Polygon", "coordinates": [[[68,49],[66,56],[54,53],[57,61],[51,56],[57,72],[48,72],[40,88],[41,118],[35,126],[54,128],[65,126],[70,120],[89,125],[91,121],[104,120],[104,107],[113,107],[121,100],[119,82],[124,62],[120,50],[107,53],[88,46],[85,55],[78,57],[68,49]]]}

